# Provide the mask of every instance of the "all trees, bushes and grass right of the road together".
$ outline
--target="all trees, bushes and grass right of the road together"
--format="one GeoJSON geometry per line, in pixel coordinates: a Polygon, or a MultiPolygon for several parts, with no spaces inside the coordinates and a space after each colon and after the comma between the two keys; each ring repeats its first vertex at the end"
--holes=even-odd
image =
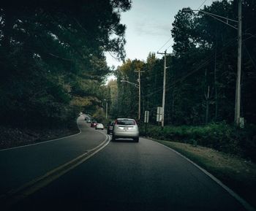
{"type": "MultiPolygon", "coordinates": [[[[223,0],[202,10],[237,20],[237,8],[238,1],[223,0]]],[[[187,12],[189,9],[181,8],[171,27],[173,52],[166,58],[165,127],[157,126],[156,121],[157,107],[162,105],[164,68],[164,58],[157,58],[156,53],[148,53],[146,61],[127,59],[116,69],[116,80],[110,86],[110,114],[113,119],[137,119],[142,135],[162,140],[159,142],[191,158],[256,207],[255,1],[242,1],[244,128],[234,126],[237,31],[204,12],[187,12]],[[140,120],[135,86],[138,72],[140,120]],[[147,133],[145,111],[149,112],[147,133]]]]}

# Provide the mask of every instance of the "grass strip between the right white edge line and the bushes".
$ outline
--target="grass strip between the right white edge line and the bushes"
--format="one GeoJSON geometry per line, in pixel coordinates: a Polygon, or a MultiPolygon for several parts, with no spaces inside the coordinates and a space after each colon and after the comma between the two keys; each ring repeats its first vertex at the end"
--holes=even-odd
{"type": "Polygon", "coordinates": [[[222,183],[256,207],[256,164],[208,147],[154,139],[176,150],[217,177],[222,183]]]}

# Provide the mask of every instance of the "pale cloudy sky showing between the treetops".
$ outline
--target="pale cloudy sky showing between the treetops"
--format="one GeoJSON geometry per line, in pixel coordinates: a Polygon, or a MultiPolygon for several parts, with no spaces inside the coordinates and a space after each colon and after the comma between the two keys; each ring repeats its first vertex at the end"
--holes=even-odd
{"type": "MultiPolygon", "coordinates": [[[[179,9],[190,7],[202,9],[203,5],[211,5],[214,0],[132,0],[132,8],[121,13],[121,23],[127,26],[124,47],[127,57],[146,61],[148,53],[172,52],[173,39],[171,28],[174,16],[179,9]],[[166,43],[167,42],[167,43],[166,43]],[[166,43],[166,45],[165,45],[166,43]],[[165,46],[163,46],[165,45],[165,46]]],[[[108,66],[121,66],[106,53],[108,66]]],[[[162,55],[157,55],[162,58],[162,55]]]]}

